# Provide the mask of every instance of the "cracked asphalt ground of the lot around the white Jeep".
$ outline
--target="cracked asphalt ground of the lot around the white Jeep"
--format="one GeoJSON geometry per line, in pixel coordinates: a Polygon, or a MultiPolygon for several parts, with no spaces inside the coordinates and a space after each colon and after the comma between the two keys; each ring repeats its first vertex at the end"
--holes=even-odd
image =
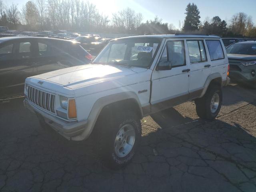
{"type": "Polygon", "coordinates": [[[88,141],[46,132],[22,99],[0,104],[0,191],[256,192],[256,90],[230,84],[217,119],[193,102],[142,119],[142,144],[118,171],[88,141]]]}

